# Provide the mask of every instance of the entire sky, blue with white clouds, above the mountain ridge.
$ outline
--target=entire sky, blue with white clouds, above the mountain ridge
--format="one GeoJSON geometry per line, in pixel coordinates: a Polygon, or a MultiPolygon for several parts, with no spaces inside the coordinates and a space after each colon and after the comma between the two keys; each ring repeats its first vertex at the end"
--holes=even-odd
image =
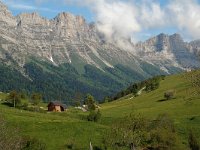
{"type": "Polygon", "coordinates": [[[52,19],[60,12],[101,22],[108,38],[131,36],[146,40],[159,33],[180,33],[185,40],[200,39],[200,0],[2,0],[13,15],[38,12],[52,19]],[[117,34],[117,35],[116,35],[117,34]]]}

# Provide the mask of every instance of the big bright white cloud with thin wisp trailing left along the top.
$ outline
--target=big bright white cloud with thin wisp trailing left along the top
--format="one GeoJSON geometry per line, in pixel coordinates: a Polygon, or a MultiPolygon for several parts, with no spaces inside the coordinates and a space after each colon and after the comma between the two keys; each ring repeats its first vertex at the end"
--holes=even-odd
{"type": "Polygon", "coordinates": [[[64,0],[67,4],[88,7],[95,14],[98,30],[107,40],[115,40],[120,45],[124,39],[141,30],[137,20],[138,8],[130,1],[122,0],[64,0]]]}

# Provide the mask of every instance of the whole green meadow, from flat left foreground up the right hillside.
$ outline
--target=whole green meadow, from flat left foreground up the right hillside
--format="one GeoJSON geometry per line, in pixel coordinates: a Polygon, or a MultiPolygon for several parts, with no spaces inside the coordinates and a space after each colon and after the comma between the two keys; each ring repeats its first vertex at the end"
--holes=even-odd
{"type": "MultiPolygon", "coordinates": [[[[31,135],[48,143],[48,149],[66,149],[70,141],[75,143],[76,149],[88,149],[89,141],[93,145],[101,145],[103,133],[109,125],[119,118],[133,113],[141,113],[147,118],[155,118],[158,114],[168,113],[175,122],[180,147],[186,149],[187,131],[194,128],[200,136],[200,98],[187,100],[188,89],[191,85],[183,75],[166,77],[160,88],[143,93],[133,98],[128,95],[118,101],[101,105],[102,120],[100,123],[87,122],[81,119],[87,113],[70,109],[66,113],[34,113],[7,108],[0,105],[0,114],[3,114],[9,123],[21,128],[23,135],[31,135]],[[176,99],[161,101],[167,90],[176,90],[176,99]],[[190,118],[194,117],[193,120],[190,118]]],[[[1,94],[0,94],[1,98],[1,94]]]]}

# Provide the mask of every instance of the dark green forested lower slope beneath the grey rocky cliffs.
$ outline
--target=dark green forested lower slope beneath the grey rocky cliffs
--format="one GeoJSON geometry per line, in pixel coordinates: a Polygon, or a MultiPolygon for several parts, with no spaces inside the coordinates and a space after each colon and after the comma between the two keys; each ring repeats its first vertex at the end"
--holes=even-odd
{"type": "MultiPolygon", "coordinates": [[[[107,72],[85,65],[84,72],[80,73],[70,64],[55,66],[41,61],[26,64],[23,72],[3,64],[0,68],[1,91],[17,90],[27,94],[39,92],[45,101],[61,100],[71,104],[76,93],[81,93],[82,97],[91,93],[97,100],[102,101],[105,96],[113,96],[131,83],[142,81],[154,74],[142,75],[123,65],[105,68],[107,72]]],[[[156,68],[152,66],[152,69],[156,68]]]]}

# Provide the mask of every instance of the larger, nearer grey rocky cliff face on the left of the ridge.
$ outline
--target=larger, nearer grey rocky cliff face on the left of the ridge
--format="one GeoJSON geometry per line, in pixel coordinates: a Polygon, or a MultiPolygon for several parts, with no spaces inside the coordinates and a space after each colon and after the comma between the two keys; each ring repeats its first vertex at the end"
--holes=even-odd
{"type": "Polygon", "coordinates": [[[30,57],[36,57],[54,65],[71,63],[76,66],[78,59],[82,64],[102,70],[119,63],[135,62],[135,56],[130,52],[102,43],[95,25],[87,24],[81,16],[63,12],[51,20],[37,13],[14,17],[2,3],[0,7],[3,62],[10,57],[23,67],[30,57]]]}

